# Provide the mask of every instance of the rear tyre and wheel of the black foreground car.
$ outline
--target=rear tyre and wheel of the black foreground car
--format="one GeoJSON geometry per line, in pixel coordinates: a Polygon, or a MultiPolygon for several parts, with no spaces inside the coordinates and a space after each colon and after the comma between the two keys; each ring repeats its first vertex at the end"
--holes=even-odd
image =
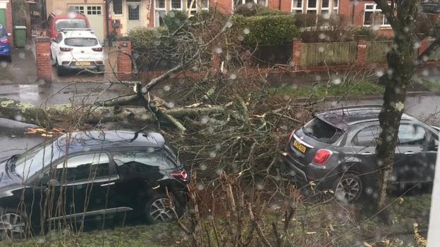
{"type": "MultiPolygon", "coordinates": [[[[183,215],[183,208],[176,198],[173,200],[173,208],[178,217],[183,215]]],[[[169,198],[164,194],[157,194],[150,198],[145,204],[145,215],[149,223],[170,222],[176,219],[173,210],[169,208],[169,198]]]]}

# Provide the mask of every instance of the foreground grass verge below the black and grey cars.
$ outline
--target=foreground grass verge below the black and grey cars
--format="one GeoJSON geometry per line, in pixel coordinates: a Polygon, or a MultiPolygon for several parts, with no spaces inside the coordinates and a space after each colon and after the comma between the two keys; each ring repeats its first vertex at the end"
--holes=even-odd
{"type": "MultiPolygon", "coordinates": [[[[390,198],[393,212],[393,224],[385,225],[373,217],[360,215],[360,205],[343,206],[338,203],[317,203],[309,208],[298,208],[288,229],[288,239],[284,246],[414,246],[413,225],[417,223],[421,235],[426,237],[429,222],[431,194],[405,196],[399,200],[390,198]],[[384,245],[385,242],[392,243],[384,245]],[[328,245],[330,244],[330,245],[328,245]]],[[[283,229],[282,210],[272,210],[262,215],[260,221],[267,239],[276,246],[272,232],[272,224],[276,222],[280,231],[283,229]]],[[[214,234],[209,228],[210,220],[202,220],[207,227],[212,244],[214,234]]],[[[224,232],[231,226],[221,217],[216,218],[216,227],[224,232]]],[[[243,224],[247,226],[248,224],[243,224]]],[[[206,230],[206,229],[205,229],[206,230]]],[[[248,229],[245,230],[247,232],[248,229]]],[[[203,233],[205,233],[203,231],[203,233]]],[[[283,232],[282,232],[283,234],[283,232]]],[[[202,237],[206,236],[204,234],[202,237]]],[[[206,238],[205,238],[206,239],[206,238]]],[[[257,243],[259,239],[255,236],[257,243]]],[[[116,229],[83,232],[79,236],[73,234],[52,233],[37,236],[26,241],[0,242],[0,246],[190,246],[190,238],[185,235],[176,223],[138,225],[119,227],[116,229]],[[75,239],[78,239],[75,241],[75,239]]],[[[203,246],[209,246],[204,241],[203,246]]],[[[252,245],[251,246],[255,246],[252,245]]]]}

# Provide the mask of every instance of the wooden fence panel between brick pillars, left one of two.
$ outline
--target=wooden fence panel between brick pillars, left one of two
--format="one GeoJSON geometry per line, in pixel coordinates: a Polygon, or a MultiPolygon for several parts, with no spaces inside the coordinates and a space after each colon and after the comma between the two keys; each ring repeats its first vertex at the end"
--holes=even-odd
{"type": "Polygon", "coordinates": [[[340,65],[356,60],[356,42],[302,43],[302,66],[340,65]]]}

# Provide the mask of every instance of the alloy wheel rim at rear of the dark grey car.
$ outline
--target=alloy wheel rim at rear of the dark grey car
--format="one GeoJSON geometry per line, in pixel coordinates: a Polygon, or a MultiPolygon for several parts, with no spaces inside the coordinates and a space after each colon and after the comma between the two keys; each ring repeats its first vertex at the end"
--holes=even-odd
{"type": "Polygon", "coordinates": [[[360,197],[362,185],[357,177],[344,176],[336,185],[336,199],[353,202],[360,197]]]}

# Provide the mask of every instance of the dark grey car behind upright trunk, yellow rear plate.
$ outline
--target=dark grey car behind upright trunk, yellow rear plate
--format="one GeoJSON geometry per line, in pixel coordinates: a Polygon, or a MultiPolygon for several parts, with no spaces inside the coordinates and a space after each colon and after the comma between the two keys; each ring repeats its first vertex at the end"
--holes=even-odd
{"type": "MultiPolygon", "coordinates": [[[[288,174],[341,201],[371,193],[377,178],[375,148],[381,106],[348,106],[319,113],[292,132],[284,153],[288,174]]],[[[403,113],[390,181],[396,186],[432,182],[439,132],[403,113]]]]}

